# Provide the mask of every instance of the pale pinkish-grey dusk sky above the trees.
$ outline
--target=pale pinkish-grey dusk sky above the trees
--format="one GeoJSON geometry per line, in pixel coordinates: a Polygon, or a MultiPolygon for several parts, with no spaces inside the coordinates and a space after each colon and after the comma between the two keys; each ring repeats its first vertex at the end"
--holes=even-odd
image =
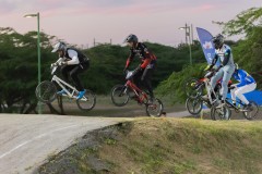
{"type": "MultiPolygon", "coordinates": [[[[222,33],[216,22],[228,22],[249,8],[261,8],[261,0],[0,0],[0,27],[25,34],[37,29],[69,44],[93,47],[96,42],[121,45],[129,34],[141,41],[177,46],[184,42],[186,23],[222,33]]],[[[236,38],[229,38],[236,39],[236,38]]]]}

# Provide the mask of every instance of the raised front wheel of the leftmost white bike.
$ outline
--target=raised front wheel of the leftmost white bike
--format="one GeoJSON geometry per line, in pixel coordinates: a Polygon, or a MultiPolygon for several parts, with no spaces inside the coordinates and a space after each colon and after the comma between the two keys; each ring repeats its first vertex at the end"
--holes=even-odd
{"type": "Polygon", "coordinates": [[[52,82],[44,80],[36,87],[35,94],[39,101],[50,103],[57,98],[57,87],[52,82]]]}

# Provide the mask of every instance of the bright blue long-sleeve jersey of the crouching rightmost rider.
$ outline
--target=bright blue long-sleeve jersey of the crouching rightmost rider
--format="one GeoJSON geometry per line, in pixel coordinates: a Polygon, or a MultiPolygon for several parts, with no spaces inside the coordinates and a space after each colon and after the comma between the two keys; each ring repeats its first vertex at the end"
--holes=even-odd
{"type": "Polygon", "coordinates": [[[252,83],[255,83],[254,78],[249,75],[246,71],[243,70],[237,70],[234,74],[233,77],[239,82],[239,84],[237,84],[237,87],[241,87],[245,85],[249,85],[252,83]]]}

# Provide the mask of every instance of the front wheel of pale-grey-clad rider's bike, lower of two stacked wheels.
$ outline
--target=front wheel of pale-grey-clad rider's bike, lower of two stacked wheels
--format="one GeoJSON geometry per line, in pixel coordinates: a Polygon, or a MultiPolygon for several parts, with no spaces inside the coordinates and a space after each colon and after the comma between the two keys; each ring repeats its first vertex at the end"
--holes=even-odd
{"type": "Polygon", "coordinates": [[[203,109],[203,100],[200,98],[188,98],[186,100],[186,108],[192,115],[198,115],[203,109]]]}

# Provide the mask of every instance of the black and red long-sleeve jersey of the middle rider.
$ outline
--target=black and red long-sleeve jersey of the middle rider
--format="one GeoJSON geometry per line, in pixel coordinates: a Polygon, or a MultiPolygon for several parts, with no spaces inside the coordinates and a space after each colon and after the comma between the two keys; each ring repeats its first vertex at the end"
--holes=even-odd
{"type": "Polygon", "coordinates": [[[127,60],[126,67],[130,65],[135,55],[139,55],[141,59],[141,69],[153,69],[156,64],[156,57],[148,51],[144,44],[138,42],[135,48],[130,49],[130,55],[127,60]]]}

